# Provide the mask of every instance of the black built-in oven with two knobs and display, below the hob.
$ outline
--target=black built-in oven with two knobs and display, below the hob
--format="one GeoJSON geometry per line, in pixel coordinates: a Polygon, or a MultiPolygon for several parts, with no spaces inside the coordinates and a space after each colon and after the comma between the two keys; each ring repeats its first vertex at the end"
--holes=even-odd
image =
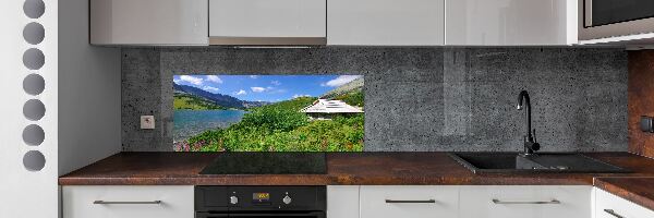
{"type": "Polygon", "coordinates": [[[196,218],[325,218],[326,186],[195,186],[196,218]]]}

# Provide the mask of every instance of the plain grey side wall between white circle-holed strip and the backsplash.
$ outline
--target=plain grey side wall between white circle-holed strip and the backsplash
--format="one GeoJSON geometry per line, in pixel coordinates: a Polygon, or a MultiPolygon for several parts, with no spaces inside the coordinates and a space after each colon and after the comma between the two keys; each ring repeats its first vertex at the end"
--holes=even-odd
{"type": "Polygon", "coordinates": [[[59,174],[121,150],[120,49],[88,44],[88,0],[59,1],[59,174]]]}

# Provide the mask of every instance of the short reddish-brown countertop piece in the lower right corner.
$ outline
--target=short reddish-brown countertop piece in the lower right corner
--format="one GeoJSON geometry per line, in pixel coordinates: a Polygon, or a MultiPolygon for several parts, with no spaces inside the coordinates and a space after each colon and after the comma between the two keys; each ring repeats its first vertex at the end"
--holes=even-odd
{"type": "Polygon", "coordinates": [[[595,178],[594,185],[606,192],[654,210],[654,177],[595,178]]]}

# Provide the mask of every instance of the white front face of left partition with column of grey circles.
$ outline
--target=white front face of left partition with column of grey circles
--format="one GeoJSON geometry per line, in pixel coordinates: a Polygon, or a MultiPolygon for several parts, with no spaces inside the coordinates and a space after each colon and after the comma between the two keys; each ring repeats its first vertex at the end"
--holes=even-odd
{"type": "Polygon", "coordinates": [[[45,14],[29,19],[23,13],[24,0],[0,1],[0,217],[50,218],[58,215],[58,150],[57,150],[57,1],[45,0],[45,14]],[[23,39],[23,27],[29,22],[44,25],[45,39],[29,45],[23,39]],[[46,59],[38,70],[23,65],[23,52],[28,48],[40,49],[46,59]],[[31,96],[23,90],[23,78],[29,73],[40,74],[46,86],[44,93],[31,96]],[[23,104],[38,99],[46,106],[45,117],[29,121],[23,116],[23,104]],[[28,146],[22,140],[23,129],[38,124],[44,129],[45,141],[28,146]],[[28,150],[43,153],[46,162],[39,171],[28,171],[23,156],[28,150]]]}

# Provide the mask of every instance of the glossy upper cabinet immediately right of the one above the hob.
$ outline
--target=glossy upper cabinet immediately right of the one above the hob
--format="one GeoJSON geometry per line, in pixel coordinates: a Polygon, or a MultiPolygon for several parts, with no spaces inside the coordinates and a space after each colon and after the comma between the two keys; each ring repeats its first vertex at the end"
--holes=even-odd
{"type": "Polygon", "coordinates": [[[327,45],[443,46],[444,0],[329,0],[327,45]]]}

